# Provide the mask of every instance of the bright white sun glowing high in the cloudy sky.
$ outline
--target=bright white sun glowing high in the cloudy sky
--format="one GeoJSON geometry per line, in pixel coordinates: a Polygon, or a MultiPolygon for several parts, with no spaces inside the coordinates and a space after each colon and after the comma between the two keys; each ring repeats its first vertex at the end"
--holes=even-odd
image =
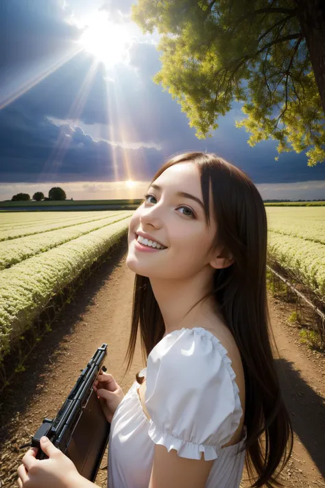
{"type": "Polygon", "coordinates": [[[95,14],[79,40],[85,51],[93,54],[107,67],[123,62],[128,56],[131,36],[128,27],[109,22],[104,14],[95,14]]]}

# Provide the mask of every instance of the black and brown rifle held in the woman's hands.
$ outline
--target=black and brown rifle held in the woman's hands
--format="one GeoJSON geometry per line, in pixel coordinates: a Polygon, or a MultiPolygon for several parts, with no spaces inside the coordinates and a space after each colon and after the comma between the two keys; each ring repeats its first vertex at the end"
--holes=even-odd
{"type": "Polygon", "coordinates": [[[101,408],[93,384],[107,354],[107,344],[97,349],[73,386],[69,396],[52,420],[44,419],[31,443],[19,449],[32,446],[38,448],[37,459],[48,456],[40,449],[40,438],[44,435],[68,456],[78,472],[88,480],[95,481],[110,435],[110,423],[101,408]]]}

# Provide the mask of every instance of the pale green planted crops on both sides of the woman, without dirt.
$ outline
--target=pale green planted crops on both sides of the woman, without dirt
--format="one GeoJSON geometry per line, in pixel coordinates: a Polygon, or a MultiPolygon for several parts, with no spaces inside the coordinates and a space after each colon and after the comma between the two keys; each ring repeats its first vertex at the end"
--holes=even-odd
{"type": "MultiPolygon", "coordinates": [[[[323,300],[323,207],[265,208],[269,263],[287,270],[293,281],[323,300]]],[[[121,209],[1,213],[0,363],[47,303],[125,235],[132,213],[121,209]]]]}

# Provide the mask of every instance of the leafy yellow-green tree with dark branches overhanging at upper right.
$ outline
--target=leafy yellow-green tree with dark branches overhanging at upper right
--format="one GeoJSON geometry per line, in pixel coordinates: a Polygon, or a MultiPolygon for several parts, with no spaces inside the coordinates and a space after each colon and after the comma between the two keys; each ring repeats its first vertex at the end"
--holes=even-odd
{"type": "Polygon", "coordinates": [[[236,126],[250,146],[272,138],[278,154],[307,150],[309,166],[324,161],[324,0],[139,0],[132,19],[160,33],[154,82],[199,139],[243,102],[236,126]]]}

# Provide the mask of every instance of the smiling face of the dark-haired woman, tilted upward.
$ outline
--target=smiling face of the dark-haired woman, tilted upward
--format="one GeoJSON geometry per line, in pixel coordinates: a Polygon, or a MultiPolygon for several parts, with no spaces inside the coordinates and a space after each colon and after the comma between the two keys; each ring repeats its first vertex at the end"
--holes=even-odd
{"type": "Polygon", "coordinates": [[[126,265],[138,275],[160,279],[190,279],[215,257],[208,255],[217,226],[213,219],[210,190],[210,228],[205,220],[200,174],[195,163],[177,163],[153,182],[145,202],[134,212],[128,232],[126,265]],[[183,191],[195,196],[178,195],[183,191]],[[136,248],[136,233],[151,235],[166,249],[154,252],[136,248]]]}

